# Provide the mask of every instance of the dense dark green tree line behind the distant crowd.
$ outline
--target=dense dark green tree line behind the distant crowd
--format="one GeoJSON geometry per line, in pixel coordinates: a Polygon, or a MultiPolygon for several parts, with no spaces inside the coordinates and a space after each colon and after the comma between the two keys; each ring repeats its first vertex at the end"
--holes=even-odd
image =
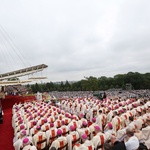
{"type": "Polygon", "coordinates": [[[32,92],[51,91],[101,91],[108,89],[123,89],[131,85],[134,90],[150,89],[150,73],[141,74],[138,72],[128,72],[127,74],[117,74],[114,77],[84,77],[76,82],[61,81],[60,83],[36,83],[27,85],[32,92]]]}

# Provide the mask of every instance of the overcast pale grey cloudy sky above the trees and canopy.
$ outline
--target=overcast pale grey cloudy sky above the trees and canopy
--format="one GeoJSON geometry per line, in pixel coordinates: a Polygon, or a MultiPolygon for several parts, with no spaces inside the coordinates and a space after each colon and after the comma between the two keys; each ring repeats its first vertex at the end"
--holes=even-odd
{"type": "Polygon", "coordinates": [[[0,60],[52,82],[150,72],[150,1],[1,0],[0,60]]]}

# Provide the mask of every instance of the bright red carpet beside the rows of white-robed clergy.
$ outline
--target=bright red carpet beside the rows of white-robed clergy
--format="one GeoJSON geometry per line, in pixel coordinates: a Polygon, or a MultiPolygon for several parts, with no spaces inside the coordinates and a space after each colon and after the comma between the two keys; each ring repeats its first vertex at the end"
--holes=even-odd
{"type": "Polygon", "coordinates": [[[33,96],[7,96],[2,100],[4,111],[3,124],[0,124],[0,150],[14,150],[13,148],[13,128],[12,128],[12,106],[15,103],[32,101],[33,96]]]}

